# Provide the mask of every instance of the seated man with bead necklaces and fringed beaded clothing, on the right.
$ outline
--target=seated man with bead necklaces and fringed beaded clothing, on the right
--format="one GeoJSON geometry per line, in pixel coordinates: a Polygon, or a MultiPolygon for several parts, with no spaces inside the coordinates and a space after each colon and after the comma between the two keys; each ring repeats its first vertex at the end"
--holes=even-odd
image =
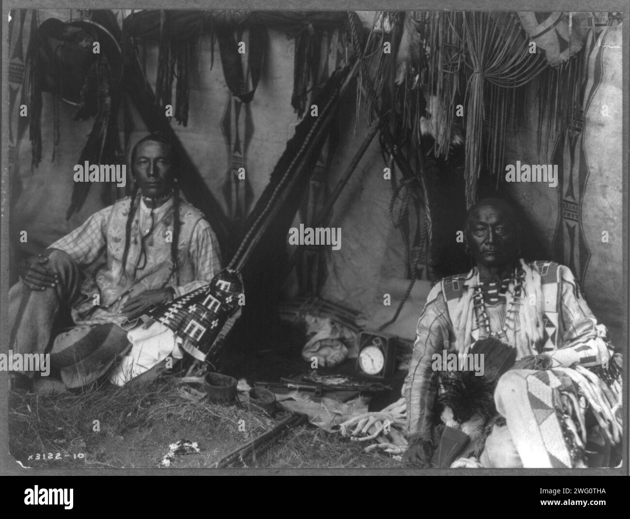
{"type": "MultiPolygon", "coordinates": [[[[432,356],[443,350],[466,353],[476,341],[495,338],[515,348],[517,362],[498,379],[494,401],[503,418],[491,428],[473,466],[586,466],[586,429],[593,428],[588,413],[586,423],[581,414],[587,407],[582,394],[588,393],[589,404],[596,406],[595,396],[580,381],[585,375],[590,380],[595,377],[584,368],[608,366],[612,346],[569,268],[519,258],[517,229],[515,213],[503,200],[476,203],[465,231],[476,266],[469,273],[440,280],[428,295],[403,390],[409,442],[405,459],[413,464],[432,466],[437,447],[432,435],[439,421],[434,413],[440,384],[432,370],[432,356]],[[576,402],[575,413],[580,413],[581,430],[573,428],[575,435],[563,419],[562,402],[569,397],[576,402]]],[[[619,356],[610,362],[616,363],[619,356]]],[[[621,419],[612,416],[612,420],[614,443],[619,443],[621,419]]],[[[602,429],[604,425],[599,422],[602,429]]],[[[599,433],[613,435],[608,430],[599,433]]]]}

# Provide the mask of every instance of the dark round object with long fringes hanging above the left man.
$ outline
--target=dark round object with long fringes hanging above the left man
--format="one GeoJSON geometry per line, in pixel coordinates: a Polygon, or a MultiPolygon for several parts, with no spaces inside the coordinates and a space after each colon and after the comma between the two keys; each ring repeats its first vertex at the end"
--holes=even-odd
{"type": "MultiPolygon", "coordinates": [[[[113,33],[120,30],[111,25],[116,23],[115,17],[107,13],[95,11],[94,18],[100,23],[88,19],[62,22],[49,18],[37,30],[33,26],[25,74],[33,166],[42,159],[42,92],[54,94],[53,160],[59,142],[59,104],[62,101],[79,106],[75,120],[95,117],[79,163],[115,164],[122,160],[117,125],[112,126],[116,111],[113,108],[119,104],[114,98],[122,79],[122,55],[113,33]],[[94,54],[96,43],[99,52],[94,54]]],[[[36,24],[36,20],[33,16],[32,23],[36,24]]],[[[68,219],[83,207],[90,186],[89,182],[74,183],[68,219]]]]}

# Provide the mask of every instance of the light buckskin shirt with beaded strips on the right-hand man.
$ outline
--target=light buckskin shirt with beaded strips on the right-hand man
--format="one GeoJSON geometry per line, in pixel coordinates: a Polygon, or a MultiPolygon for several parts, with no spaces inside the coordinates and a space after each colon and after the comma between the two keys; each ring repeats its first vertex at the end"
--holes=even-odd
{"type": "MultiPolygon", "coordinates": [[[[525,271],[521,304],[517,305],[513,329],[507,331],[507,337],[499,337],[517,348],[517,360],[547,353],[553,359],[552,367],[569,366],[573,362],[592,367],[608,359],[612,346],[607,331],[597,324],[571,270],[552,261],[520,260],[520,263],[525,271]],[[539,326],[534,326],[536,323],[539,326]]],[[[440,280],[427,297],[404,385],[409,434],[418,433],[430,439],[435,425],[433,405],[438,387],[432,355],[441,354],[442,350],[466,353],[476,340],[486,337],[486,330],[479,329],[477,324],[473,304],[474,287],[479,284],[478,270],[473,268],[469,273],[440,280]]],[[[497,287],[497,292],[503,292],[502,299],[490,294],[495,305],[486,302],[492,330],[501,329],[505,323],[513,284],[512,280],[497,287]]]]}

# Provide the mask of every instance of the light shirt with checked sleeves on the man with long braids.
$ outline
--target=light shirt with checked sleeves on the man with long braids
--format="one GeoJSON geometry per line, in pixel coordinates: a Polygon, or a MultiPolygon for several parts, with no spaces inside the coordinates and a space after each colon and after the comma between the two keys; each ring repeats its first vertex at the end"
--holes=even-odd
{"type": "Polygon", "coordinates": [[[91,215],[83,225],[50,246],[69,254],[86,275],[81,285],[84,298],[72,308],[72,317],[77,324],[120,324],[125,320],[120,307],[130,297],[164,287],[173,287],[176,297],[188,294],[209,283],[221,268],[219,247],[210,224],[197,209],[181,202],[178,270],[171,275],[171,198],[152,211],[143,200],[139,205],[134,204],[129,252],[123,272],[129,205],[130,197],[118,200],[91,215]]]}

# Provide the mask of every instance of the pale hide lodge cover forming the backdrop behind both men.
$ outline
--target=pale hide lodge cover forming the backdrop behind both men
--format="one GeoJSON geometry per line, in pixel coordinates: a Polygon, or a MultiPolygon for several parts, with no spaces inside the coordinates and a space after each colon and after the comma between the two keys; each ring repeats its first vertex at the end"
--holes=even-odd
{"type": "MultiPolygon", "coordinates": [[[[69,13],[61,9],[20,9],[10,25],[13,264],[25,254],[38,253],[96,210],[123,197],[129,189],[93,185],[83,193],[84,202],[69,214],[71,193],[76,190],[72,168],[85,152],[86,139],[95,127],[95,120],[76,120],[77,107],[46,90],[41,94],[42,158],[37,166],[32,164],[30,120],[19,117],[21,100],[27,94],[23,78],[28,48],[33,33],[47,20],[68,22],[71,16],[75,21],[80,17],[76,10],[72,15],[69,13]],[[28,231],[26,243],[19,241],[21,229],[28,231]]],[[[372,26],[374,14],[358,13],[360,25],[372,26]]],[[[621,156],[616,153],[622,117],[619,105],[622,26],[617,21],[609,23],[607,13],[502,13],[497,19],[500,23],[493,26],[497,37],[516,38],[515,34],[537,43],[539,51],[532,66],[541,72],[528,83],[530,102],[525,105],[518,133],[497,119],[506,137],[501,149],[497,148],[496,157],[502,157],[505,164],[520,160],[559,166],[557,191],[536,183],[503,184],[502,188],[529,215],[539,250],[575,271],[597,317],[613,336],[621,336],[624,309],[613,301],[621,300],[619,280],[622,279],[622,228],[617,214],[621,207],[622,174],[621,156]],[[570,127],[556,134],[554,107],[544,106],[544,96],[537,92],[550,93],[558,86],[566,87],[561,72],[581,78],[581,84],[569,96],[580,109],[571,115],[570,127]],[[553,144],[549,144],[549,149],[541,149],[541,139],[553,144]],[[603,231],[611,237],[604,244],[603,231]]],[[[268,185],[270,173],[294,134],[300,115],[307,117],[311,96],[338,67],[347,66],[352,59],[352,26],[348,24],[347,13],[214,11],[197,16],[186,11],[116,10],[111,16],[94,20],[118,41],[123,31],[132,37],[139,66],[152,91],[161,103],[171,101],[174,105],[171,125],[189,161],[185,174],[197,178],[195,186],[205,189],[203,193],[207,196],[201,197],[198,193],[202,191],[198,189],[184,194],[189,199],[197,195],[199,199],[210,200],[205,202],[207,207],[200,208],[209,217],[229,257],[229,252],[238,245],[237,236],[243,236],[244,222],[268,185]],[[239,38],[260,45],[260,55],[253,53],[247,62],[239,58],[234,63],[230,49],[239,38]],[[185,47],[181,47],[182,41],[185,47]],[[170,57],[165,65],[167,55],[170,57]],[[232,63],[224,64],[224,60],[232,63]],[[243,75],[243,71],[249,73],[243,75]],[[235,181],[240,168],[246,171],[245,180],[235,181]],[[214,214],[209,214],[209,208],[214,214]]],[[[406,21],[409,22],[404,16],[391,20],[391,27],[399,30],[397,37],[403,43],[410,35],[404,31],[406,21]]],[[[481,23],[472,18],[469,22],[469,30],[473,30],[474,23],[481,23]]],[[[383,19],[379,23],[385,29],[389,21],[383,19]]],[[[432,23],[442,21],[435,18],[432,23]]],[[[483,24],[479,25],[482,28],[483,24]]],[[[518,38],[513,41],[520,41],[518,38]]],[[[125,52],[125,45],[120,47],[125,52]]],[[[400,66],[403,56],[398,58],[393,63],[400,66]]],[[[379,67],[384,66],[391,65],[372,64],[372,76],[378,78],[379,67]]],[[[488,66],[494,65],[489,61],[488,66]]],[[[400,81],[413,81],[413,71],[409,70],[410,77],[399,78],[400,81]]],[[[375,88],[383,87],[375,84],[375,88]]],[[[119,146],[113,146],[110,152],[120,162],[127,160],[130,146],[149,129],[147,123],[153,124],[135,106],[130,89],[121,85],[112,98],[118,111],[116,124],[110,131],[117,133],[119,146]]],[[[360,92],[353,91],[340,103],[335,124],[314,163],[304,201],[292,226],[316,221],[328,193],[364,139],[365,122],[370,115],[364,109],[358,113],[355,110],[361,101],[357,99],[360,92]]],[[[507,103],[507,99],[504,101],[507,103]]],[[[428,111],[434,113],[433,123],[439,119],[440,103],[439,95],[428,101],[428,111]]],[[[479,122],[488,117],[479,114],[479,122]]],[[[453,127],[457,127],[456,122],[453,127]]],[[[462,128],[462,132],[468,130],[470,135],[470,129],[462,128]]],[[[448,136],[440,128],[431,131],[442,151],[445,145],[450,146],[448,136]]],[[[474,177],[474,171],[467,168],[474,164],[481,168],[484,163],[481,155],[471,155],[472,144],[469,148],[466,159],[459,163],[425,164],[428,169],[439,171],[430,185],[421,188],[433,195],[428,197],[428,203],[416,195],[406,199],[401,188],[392,207],[392,195],[396,193],[392,183],[384,183],[383,171],[392,165],[394,176],[400,176],[401,171],[396,169],[391,156],[382,154],[382,145],[374,140],[335,204],[333,225],[344,230],[343,246],[339,251],[324,254],[301,251],[297,268],[280,288],[283,297],[315,291],[325,299],[364,312],[374,325],[382,324],[395,310],[395,305],[383,307],[383,294],[387,292],[394,301],[400,300],[416,263],[419,279],[411,292],[413,305],[403,308],[403,317],[408,316],[391,328],[413,338],[417,307],[425,300],[433,280],[438,275],[463,270],[462,249],[452,249],[452,244],[448,249],[444,236],[457,232],[462,225],[457,222],[463,219],[466,199],[471,193],[470,181],[462,185],[461,179],[474,177]],[[467,165],[461,166],[464,163],[467,165]],[[454,182],[455,177],[459,181],[454,182]],[[445,185],[452,185],[450,191],[444,191],[445,185]],[[405,200],[407,205],[403,207],[405,200]],[[451,212],[454,207],[459,208],[451,212]],[[398,228],[393,225],[397,219],[398,228]],[[452,261],[451,271],[432,271],[431,265],[444,258],[452,261]]],[[[486,172],[486,166],[483,168],[486,172]]],[[[481,175],[482,181],[486,174],[481,175]]],[[[287,249],[292,252],[292,246],[287,245],[287,249]]],[[[14,269],[11,273],[14,280],[14,269]]]]}

